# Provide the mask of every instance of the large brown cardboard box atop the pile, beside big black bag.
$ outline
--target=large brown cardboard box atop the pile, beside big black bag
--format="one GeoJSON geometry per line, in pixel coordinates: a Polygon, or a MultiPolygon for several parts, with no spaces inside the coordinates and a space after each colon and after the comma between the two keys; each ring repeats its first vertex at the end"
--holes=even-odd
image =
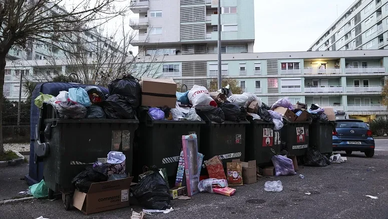
{"type": "Polygon", "coordinates": [[[175,108],[177,84],[172,78],[143,77],[139,83],[142,88],[142,106],[175,108]]]}

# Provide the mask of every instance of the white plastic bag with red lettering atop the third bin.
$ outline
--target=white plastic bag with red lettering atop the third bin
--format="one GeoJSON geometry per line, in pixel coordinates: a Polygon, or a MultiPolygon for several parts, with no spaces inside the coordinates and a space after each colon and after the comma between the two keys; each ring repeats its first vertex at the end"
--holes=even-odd
{"type": "Polygon", "coordinates": [[[203,86],[194,85],[187,96],[196,109],[207,111],[217,107],[217,103],[210,97],[209,91],[203,86]]]}

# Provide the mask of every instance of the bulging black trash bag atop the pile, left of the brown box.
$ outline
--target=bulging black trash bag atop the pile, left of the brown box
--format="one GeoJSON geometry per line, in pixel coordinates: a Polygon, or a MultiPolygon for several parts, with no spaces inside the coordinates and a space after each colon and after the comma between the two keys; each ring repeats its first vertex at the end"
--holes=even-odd
{"type": "Polygon", "coordinates": [[[126,76],[123,79],[116,79],[109,83],[109,94],[123,96],[133,107],[138,108],[141,100],[141,87],[133,76],[126,76]]]}

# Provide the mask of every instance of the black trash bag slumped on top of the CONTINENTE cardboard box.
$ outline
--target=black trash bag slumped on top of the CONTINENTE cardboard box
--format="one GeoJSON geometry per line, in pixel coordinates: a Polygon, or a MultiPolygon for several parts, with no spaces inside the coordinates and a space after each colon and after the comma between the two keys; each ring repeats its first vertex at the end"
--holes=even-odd
{"type": "Polygon", "coordinates": [[[81,192],[88,193],[90,186],[95,182],[105,182],[108,177],[94,169],[87,168],[73,178],[72,184],[81,192]]]}

